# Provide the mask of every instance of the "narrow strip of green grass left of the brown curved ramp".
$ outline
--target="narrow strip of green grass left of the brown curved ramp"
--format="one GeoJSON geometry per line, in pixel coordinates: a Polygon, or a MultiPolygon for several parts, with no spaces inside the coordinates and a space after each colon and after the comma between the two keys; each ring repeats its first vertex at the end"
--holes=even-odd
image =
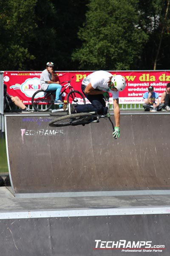
{"type": "Polygon", "coordinates": [[[0,173],[8,172],[5,137],[0,138],[0,173]]]}

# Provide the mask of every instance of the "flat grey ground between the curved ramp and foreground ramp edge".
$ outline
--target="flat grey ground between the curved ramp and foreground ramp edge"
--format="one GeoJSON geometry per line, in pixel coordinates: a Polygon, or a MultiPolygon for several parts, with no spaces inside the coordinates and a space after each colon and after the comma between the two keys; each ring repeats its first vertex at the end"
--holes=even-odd
{"type": "MultiPolygon", "coordinates": [[[[15,198],[6,188],[0,187],[0,212],[34,211],[54,209],[82,208],[131,208],[131,207],[165,207],[170,206],[168,190],[161,195],[118,195],[118,196],[84,196],[84,197],[48,197],[15,198]]],[[[158,192],[159,193],[159,192],[158,192]]]]}

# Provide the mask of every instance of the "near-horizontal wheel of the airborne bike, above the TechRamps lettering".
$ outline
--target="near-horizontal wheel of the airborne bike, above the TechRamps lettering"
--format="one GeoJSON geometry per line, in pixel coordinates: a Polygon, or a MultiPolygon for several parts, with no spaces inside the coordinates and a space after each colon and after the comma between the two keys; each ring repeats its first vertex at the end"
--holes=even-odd
{"type": "Polygon", "coordinates": [[[91,113],[75,113],[67,116],[54,118],[49,122],[51,127],[62,127],[68,125],[85,125],[93,120],[91,113]]]}

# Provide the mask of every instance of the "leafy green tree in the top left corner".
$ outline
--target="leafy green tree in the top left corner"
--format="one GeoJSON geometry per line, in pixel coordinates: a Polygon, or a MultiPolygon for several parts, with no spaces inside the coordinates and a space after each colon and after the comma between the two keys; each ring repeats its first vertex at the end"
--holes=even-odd
{"type": "Polygon", "coordinates": [[[0,70],[24,70],[34,59],[28,45],[34,30],[37,0],[0,1],[0,70]],[[4,68],[5,67],[5,68],[4,68]]]}

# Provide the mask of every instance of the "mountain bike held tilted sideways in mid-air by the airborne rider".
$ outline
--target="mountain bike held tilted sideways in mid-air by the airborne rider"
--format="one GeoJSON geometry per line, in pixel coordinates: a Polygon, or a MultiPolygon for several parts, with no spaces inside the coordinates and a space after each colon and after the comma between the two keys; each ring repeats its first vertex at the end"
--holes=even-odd
{"type": "Polygon", "coordinates": [[[68,114],[66,116],[59,116],[54,119],[52,119],[48,124],[51,127],[62,127],[62,126],[68,126],[68,125],[86,125],[89,123],[95,123],[99,122],[100,118],[109,119],[111,122],[113,131],[114,131],[114,125],[110,118],[110,104],[109,99],[105,99],[106,107],[108,107],[108,113],[99,115],[97,112],[85,112],[85,113],[74,113],[74,114],[68,114]]]}

